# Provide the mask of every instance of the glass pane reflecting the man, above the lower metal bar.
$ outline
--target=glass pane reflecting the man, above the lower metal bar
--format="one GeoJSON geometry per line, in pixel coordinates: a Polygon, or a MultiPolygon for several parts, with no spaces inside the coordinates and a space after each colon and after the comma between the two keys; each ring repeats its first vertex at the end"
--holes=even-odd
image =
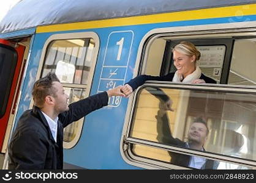
{"type": "MultiPolygon", "coordinates": [[[[256,160],[255,110],[253,94],[147,87],[139,91],[129,135],[185,149],[256,160]]],[[[144,156],[143,152],[138,155],[144,156]]],[[[170,155],[162,153],[162,158],[156,159],[168,161],[170,155]]],[[[233,166],[223,163],[218,166],[233,166]]]]}

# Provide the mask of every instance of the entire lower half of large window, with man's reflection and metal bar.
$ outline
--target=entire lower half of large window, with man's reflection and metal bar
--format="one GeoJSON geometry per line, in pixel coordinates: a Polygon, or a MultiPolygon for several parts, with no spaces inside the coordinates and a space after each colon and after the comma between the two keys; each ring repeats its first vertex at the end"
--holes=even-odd
{"type": "Polygon", "coordinates": [[[130,156],[161,167],[255,168],[255,106],[255,88],[146,84],[130,118],[130,156]]]}

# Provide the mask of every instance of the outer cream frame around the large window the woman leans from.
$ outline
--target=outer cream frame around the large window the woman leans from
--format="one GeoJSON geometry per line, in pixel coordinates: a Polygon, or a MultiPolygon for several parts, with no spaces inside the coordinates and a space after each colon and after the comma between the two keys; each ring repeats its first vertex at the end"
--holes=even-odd
{"type": "MultiPolygon", "coordinates": [[[[230,38],[232,36],[256,36],[256,21],[251,21],[250,24],[245,26],[244,22],[241,23],[229,23],[229,24],[210,24],[210,25],[199,25],[199,26],[182,26],[182,27],[166,27],[166,28],[159,28],[159,29],[152,29],[150,30],[145,36],[141,39],[140,45],[138,47],[138,54],[135,63],[134,69],[134,77],[138,75],[139,66],[141,64],[140,74],[145,74],[146,72],[146,61],[148,60],[148,52],[151,46],[152,41],[159,37],[168,37],[170,40],[186,40],[186,39],[200,39],[200,38],[230,38]],[[146,48],[144,49],[146,45],[146,48]]],[[[120,152],[121,156],[125,162],[129,163],[130,165],[134,165],[136,167],[142,168],[175,168],[175,169],[186,169],[186,167],[179,167],[176,165],[171,165],[168,163],[162,163],[159,161],[154,161],[151,159],[147,159],[145,157],[138,157],[138,156],[131,156],[131,151],[129,149],[129,143],[127,144],[127,134],[129,133],[129,126],[131,123],[132,112],[134,112],[134,102],[135,102],[135,95],[130,96],[128,104],[127,104],[127,112],[126,118],[124,121],[124,127],[122,130],[122,136],[120,140],[120,152]]],[[[130,139],[132,140],[132,139],[130,139]]],[[[141,142],[137,142],[140,144],[141,142]]],[[[142,144],[142,143],[141,143],[142,144]]],[[[150,146],[150,145],[147,145],[150,146]]],[[[175,151],[173,148],[165,148],[161,147],[160,149],[169,149],[175,151]]],[[[184,151],[184,149],[178,148],[178,151],[184,151]]],[[[184,152],[183,152],[184,153],[184,152]]],[[[191,151],[191,153],[193,153],[191,151]]],[[[209,157],[206,152],[197,153],[198,156],[201,157],[209,157]]],[[[186,154],[186,153],[185,153],[186,154]]],[[[219,160],[224,159],[224,156],[217,156],[219,160]]],[[[225,157],[227,158],[227,157],[225,157]]],[[[216,154],[211,158],[213,160],[216,159],[216,154]]],[[[223,160],[222,160],[223,161],[223,160]]],[[[252,162],[250,162],[252,165],[252,162]]],[[[253,166],[256,164],[254,163],[253,166]]]]}

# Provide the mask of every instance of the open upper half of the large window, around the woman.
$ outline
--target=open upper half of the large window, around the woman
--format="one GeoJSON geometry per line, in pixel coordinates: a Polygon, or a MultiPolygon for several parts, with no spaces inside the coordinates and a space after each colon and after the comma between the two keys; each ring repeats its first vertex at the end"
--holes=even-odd
{"type": "Polygon", "coordinates": [[[143,63],[141,74],[164,76],[175,72],[171,48],[180,41],[194,43],[201,52],[198,66],[208,77],[219,84],[255,85],[255,36],[241,37],[234,34],[230,38],[199,38],[171,40],[159,37],[151,41],[143,63]]]}

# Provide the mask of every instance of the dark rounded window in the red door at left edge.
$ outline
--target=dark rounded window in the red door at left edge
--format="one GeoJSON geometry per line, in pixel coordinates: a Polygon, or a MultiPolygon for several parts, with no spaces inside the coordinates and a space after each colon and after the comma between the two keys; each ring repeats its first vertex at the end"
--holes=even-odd
{"type": "Polygon", "coordinates": [[[6,112],[17,58],[15,49],[10,46],[0,45],[0,118],[6,112]]]}

